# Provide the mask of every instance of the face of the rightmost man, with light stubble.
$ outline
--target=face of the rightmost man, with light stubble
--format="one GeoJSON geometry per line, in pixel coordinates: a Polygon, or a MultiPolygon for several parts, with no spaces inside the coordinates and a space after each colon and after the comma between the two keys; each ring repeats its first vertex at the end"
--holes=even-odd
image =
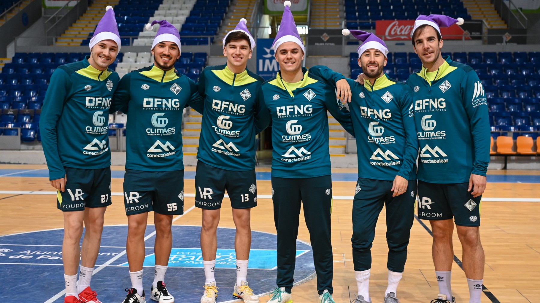
{"type": "Polygon", "coordinates": [[[433,26],[421,26],[413,35],[414,52],[418,54],[424,66],[433,64],[441,58],[442,45],[441,36],[433,26]]]}

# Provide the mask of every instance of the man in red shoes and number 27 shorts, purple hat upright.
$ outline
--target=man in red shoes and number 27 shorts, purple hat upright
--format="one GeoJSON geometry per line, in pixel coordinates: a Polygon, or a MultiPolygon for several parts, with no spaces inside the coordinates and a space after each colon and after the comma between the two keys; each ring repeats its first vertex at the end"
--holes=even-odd
{"type": "Polygon", "coordinates": [[[90,280],[105,209],[111,205],[111,152],[106,120],[109,112],[116,111],[110,107],[110,100],[120,80],[109,69],[120,51],[112,6],[107,6],[96,27],[90,51],[90,56],[82,61],[59,66],[52,73],[39,123],[51,186],[58,191],[57,207],[64,215],[66,303],[100,303],[90,288],[90,280]],[[83,222],[85,234],[79,249],[83,222]]]}

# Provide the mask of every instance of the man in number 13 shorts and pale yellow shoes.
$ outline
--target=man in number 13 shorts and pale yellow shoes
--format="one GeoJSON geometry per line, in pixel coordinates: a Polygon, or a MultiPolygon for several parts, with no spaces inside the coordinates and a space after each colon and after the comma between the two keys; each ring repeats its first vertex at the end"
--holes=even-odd
{"type": "Polygon", "coordinates": [[[213,303],[217,297],[217,228],[225,191],[236,227],[237,279],[233,296],[246,303],[259,302],[247,283],[251,208],[257,206],[255,135],[261,131],[255,124],[261,111],[257,91],[264,82],[246,69],[253,47],[255,40],[242,18],[223,39],[227,64],[208,66],[199,77],[199,93],[205,98],[195,174],[195,206],[203,213],[200,243],[205,290],[201,303],[213,303]]]}

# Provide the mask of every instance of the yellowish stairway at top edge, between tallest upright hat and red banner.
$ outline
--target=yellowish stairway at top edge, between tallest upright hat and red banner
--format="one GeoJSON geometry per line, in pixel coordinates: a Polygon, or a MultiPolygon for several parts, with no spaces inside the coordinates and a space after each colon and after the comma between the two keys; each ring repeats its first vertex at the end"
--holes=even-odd
{"type": "Polygon", "coordinates": [[[343,9],[342,0],[313,0],[312,29],[342,29],[343,9]]]}

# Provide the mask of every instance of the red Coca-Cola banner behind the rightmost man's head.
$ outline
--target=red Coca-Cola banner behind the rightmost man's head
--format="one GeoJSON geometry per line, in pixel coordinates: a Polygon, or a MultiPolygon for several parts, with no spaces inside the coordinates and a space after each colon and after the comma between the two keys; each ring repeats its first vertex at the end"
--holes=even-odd
{"type": "MultiPolygon", "coordinates": [[[[383,37],[383,40],[410,40],[413,34],[413,28],[414,20],[378,20],[375,23],[375,34],[383,37]]],[[[476,20],[470,20],[470,22],[467,20],[461,26],[454,24],[450,27],[441,28],[442,38],[446,40],[461,40],[463,39],[463,34],[465,40],[471,40],[471,33],[477,34],[481,32],[482,24],[477,23],[476,20]],[[480,29],[477,28],[478,25],[480,29]]],[[[473,37],[473,39],[480,39],[480,37],[473,37]]]]}

